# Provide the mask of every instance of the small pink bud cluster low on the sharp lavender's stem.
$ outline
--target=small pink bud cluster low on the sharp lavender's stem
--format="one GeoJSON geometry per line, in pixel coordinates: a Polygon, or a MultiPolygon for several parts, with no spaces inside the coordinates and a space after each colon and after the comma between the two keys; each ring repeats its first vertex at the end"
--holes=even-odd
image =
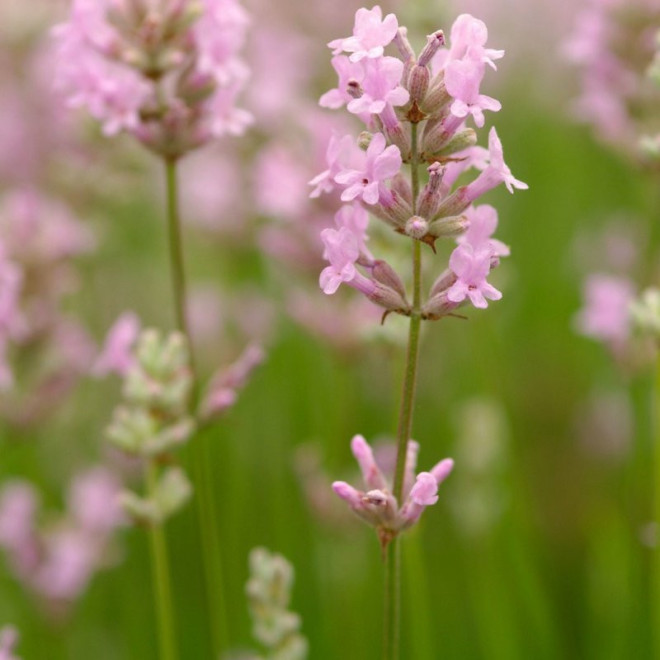
{"type": "Polygon", "coordinates": [[[414,525],[424,509],[438,501],[438,486],[454,467],[454,462],[446,458],[430,471],[416,475],[419,445],[410,440],[406,453],[402,501],[397,502],[371,447],[361,435],[353,438],[351,450],[360,466],[365,489],[358,490],[345,481],[335,481],[332,488],[360,518],[377,529],[384,545],[399,532],[414,525]]]}

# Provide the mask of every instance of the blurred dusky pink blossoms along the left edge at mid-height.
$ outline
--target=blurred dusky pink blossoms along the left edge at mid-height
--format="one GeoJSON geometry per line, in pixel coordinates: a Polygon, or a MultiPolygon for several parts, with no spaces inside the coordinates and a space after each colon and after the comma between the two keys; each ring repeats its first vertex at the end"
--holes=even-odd
{"type": "Polygon", "coordinates": [[[78,285],[73,260],[93,247],[90,231],[58,201],[30,189],[0,198],[0,385],[16,384],[12,363],[21,355],[39,352],[48,365],[25,400],[0,405],[10,420],[38,418],[89,367],[91,341],[62,306],[78,285]]]}

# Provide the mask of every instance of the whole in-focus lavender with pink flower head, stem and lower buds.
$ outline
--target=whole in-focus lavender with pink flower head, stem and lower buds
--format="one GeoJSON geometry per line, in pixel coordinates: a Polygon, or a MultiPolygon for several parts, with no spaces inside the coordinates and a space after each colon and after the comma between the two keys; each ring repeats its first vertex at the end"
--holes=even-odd
{"type": "Polygon", "coordinates": [[[500,109],[497,100],[480,92],[486,67],[496,69],[495,60],[504,54],[487,48],[487,38],[486,25],[463,14],[452,26],[448,48],[438,30],[416,56],[406,28],[399,27],[394,14],[383,17],[375,6],[357,11],[352,36],[328,44],[339,82],[320,103],[328,108],[346,106],[366,130],[357,140],[352,135],[334,137],[328,145],[327,169],[310,182],[312,195],[338,188],[345,203],[335,215],[336,228],[321,233],[329,266],[321,273],[320,286],[331,295],[342,283],[348,284],[384,310],[383,320],[391,313],[410,319],[394,474],[382,473],[371,448],[358,435],[351,448],[366,489],[333,484],[380,539],[386,564],[388,659],[399,657],[399,535],[435,504],[438,486],[453,467],[453,461],[445,459],[428,472],[414,474],[418,444],[411,434],[422,321],[455,316],[468,303],[485,308],[488,299],[501,298],[487,277],[509,250],[492,238],[495,208],[474,202],[501,183],[510,192],[527,188],[505,164],[495,128],[484,149],[477,146],[477,132],[467,125],[469,120],[483,128],[484,111],[500,109]],[[398,57],[385,55],[390,44],[398,57]],[[459,182],[471,169],[477,169],[478,176],[459,182]],[[411,295],[406,278],[369,250],[370,213],[411,247],[411,295]],[[435,255],[439,240],[455,240],[458,245],[423,297],[422,248],[427,245],[435,255]]]}

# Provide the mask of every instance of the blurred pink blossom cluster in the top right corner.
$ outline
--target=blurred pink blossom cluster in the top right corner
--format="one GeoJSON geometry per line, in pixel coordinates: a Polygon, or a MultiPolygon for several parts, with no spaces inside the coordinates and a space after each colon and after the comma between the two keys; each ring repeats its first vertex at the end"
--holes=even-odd
{"type": "Polygon", "coordinates": [[[657,116],[660,89],[646,74],[659,26],[653,0],[589,0],[564,44],[580,72],[576,114],[627,152],[657,116]]]}

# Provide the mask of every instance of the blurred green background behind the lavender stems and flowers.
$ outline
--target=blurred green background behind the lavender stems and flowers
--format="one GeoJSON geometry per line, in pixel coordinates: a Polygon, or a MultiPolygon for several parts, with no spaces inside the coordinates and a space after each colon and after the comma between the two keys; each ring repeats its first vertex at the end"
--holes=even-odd
{"type": "MultiPolygon", "coordinates": [[[[411,32],[419,26],[421,36],[452,16],[438,14],[437,22],[416,19],[411,32]]],[[[498,45],[493,30],[491,42],[498,45]]],[[[514,47],[507,44],[510,57],[514,47]]],[[[617,216],[648,232],[658,218],[657,181],[598,144],[565,105],[530,93],[529,75],[506,66],[503,60],[503,81],[491,90],[503,110],[487,126],[497,126],[507,163],[530,189],[497,190],[484,200],[498,208],[499,237],[512,249],[493,276],[503,299],[470,310],[467,320],[424,328],[414,422],[420,467],[445,456],[457,463],[439,503],[402,543],[402,657],[650,658],[651,380],[579,336],[573,318],[587,270],[578,237],[617,216]],[[592,405],[599,397],[606,402],[597,409],[600,425],[592,405]]],[[[556,66],[567,65],[558,59],[556,66]]],[[[329,70],[323,75],[331,81],[329,70]]],[[[568,98],[565,90],[556,96],[568,98]]],[[[104,206],[91,222],[103,240],[97,257],[82,264],[84,285],[71,301],[99,340],[126,308],[147,324],[172,323],[162,208],[153,202],[157,193],[143,192],[158,185],[158,165],[138,157],[135,171],[121,174],[133,183],[100,196],[104,206]]],[[[186,234],[193,279],[225,288],[249,282],[276,306],[282,300],[287,280],[268,257],[191,228],[186,234]]],[[[591,258],[597,263],[597,254],[591,258]]],[[[300,448],[312,446],[328,483],[356,482],[350,438],[395,431],[403,350],[365,342],[339,351],[277,311],[265,364],[209,432],[230,646],[254,646],[244,584],[248,552],[263,545],[295,566],[292,607],[303,618],[310,658],[372,660],[380,656],[382,616],[376,536],[340,505],[332,516],[311,506],[296,457],[299,463],[300,448]]],[[[117,382],[83,382],[47,425],[3,439],[0,476],[33,479],[58,506],[73,469],[103,455],[102,431],[118,396],[117,382]]],[[[186,659],[209,657],[195,524],[190,506],[167,530],[186,659]]],[[[44,616],[0,564],[0,623],[21,630],[22,657],[156,657],[144,532],[126,529],[118,548],[117,565],[94,578],[62,621],[44,616]]]]}

